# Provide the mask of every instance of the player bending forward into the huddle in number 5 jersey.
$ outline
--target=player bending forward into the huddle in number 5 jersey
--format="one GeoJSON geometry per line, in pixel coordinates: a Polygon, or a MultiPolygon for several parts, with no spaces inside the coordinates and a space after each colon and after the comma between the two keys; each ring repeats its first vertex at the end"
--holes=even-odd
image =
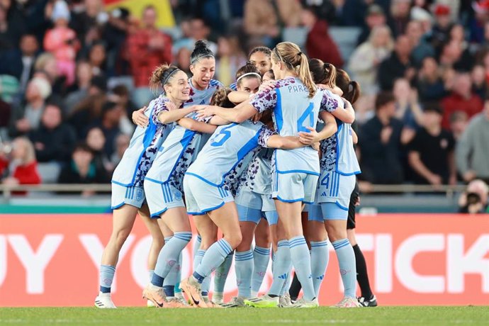
{"type": "MultiPolygon", "coordinates": [[[[222,89],[218,93],[225,91],[222,89]]],[[[230,106],[233,106],[232,103],[230,106]]],[[[210,123],[219,124],[223,121],[225,122],[219,117],[213,117],[210,123]]],[[[297,148],[300,144],[297,137],[274,135],[273,131],[260,122],[246,120],[242,123],[228,123],[215,130],[196,161],[187,170],[184,192],[189,214],[194,215],[195,220],[215,223],[223,231],[223,238],[202,253],[203,259],[194,269],[193,275],[181,281],[181,288],[193,305],[202,308],[209,306],[201,296],[201,283],[216,266],[224,262],[225,257],[242,240],[236,206],[225,181],[242,174],[257,154],[259,145],[297,148]]],[[[209,232],[206,229],[199,231],[203,237],[209,232]]]]}

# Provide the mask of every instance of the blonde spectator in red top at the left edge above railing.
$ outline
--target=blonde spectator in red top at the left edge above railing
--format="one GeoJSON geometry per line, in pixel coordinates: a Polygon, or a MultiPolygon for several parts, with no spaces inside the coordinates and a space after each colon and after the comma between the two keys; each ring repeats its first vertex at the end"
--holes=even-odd
{"type": "Polygon", "coordinates": [[[41,183],[34,146],[26,137],[13,140],[10,157],[0,153],[0,169],[3,171],[6,167],[9,167],[9,174],[1,180],[2,184],[16,186],[41,183]]]}

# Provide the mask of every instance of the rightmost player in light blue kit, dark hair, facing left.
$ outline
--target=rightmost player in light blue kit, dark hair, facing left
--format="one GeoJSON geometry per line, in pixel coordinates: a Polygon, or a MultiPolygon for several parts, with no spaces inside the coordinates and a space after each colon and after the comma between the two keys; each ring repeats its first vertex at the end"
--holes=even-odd
{"type": "MultiPolygon", "coordinates": [[[[358,84],[341,83],[344,90],[335,87],[337,72],[332,64],[313,59],[310,62],[310,69],[318,84],[326,84],[331,89],[335,88],[339,94],[348,96],[348,99],[352,101],[358,98],[358,84]],[[352,91],[349,91],[350,88],[352,91]]],[[[360,168],[353,147],[353,136],[356,135],[354,135],[351,124],[338,118],[336,122],[337,132],[324,140],[320,146],[322,152],[321,176],[317,184],[315,204],[308,207],[308,230],[310,230],[308,237],[316,295],[319,293],[329,260],[327,249],[327,237],[329,237],[337,253],[344,285],[344,298],[335,307],[353,308],[358,306],[356,264],[354,250],[347,238],[347,218],[350,197],[355,187],[356,174],[360,173],[360,168]]]]}

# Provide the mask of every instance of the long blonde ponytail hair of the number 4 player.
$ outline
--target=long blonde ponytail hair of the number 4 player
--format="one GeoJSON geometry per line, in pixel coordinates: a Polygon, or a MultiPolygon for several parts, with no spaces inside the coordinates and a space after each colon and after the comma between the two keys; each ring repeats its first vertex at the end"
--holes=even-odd
{"type": "Polygon", "coordinates": [[[300,51],[298,45],[291,42],[279,43],[271,52],[271,57],[275,62],[283,62],[288,71],[298,74],[298,78],[309,89],[309,97],[314,96],[317,87],[309,71],[308,57],[300,51]]]}

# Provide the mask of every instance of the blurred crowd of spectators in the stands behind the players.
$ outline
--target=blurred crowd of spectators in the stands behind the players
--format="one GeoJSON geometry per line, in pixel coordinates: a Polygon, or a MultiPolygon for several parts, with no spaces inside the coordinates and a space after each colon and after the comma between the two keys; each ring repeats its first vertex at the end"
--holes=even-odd
{"type": "Polygon", "coordinates": [[[147,2],[168,4],[165,28],[151,4],[131,12],[102,0],[0,0],[4,182],[25,183],[14,176],[19,163],[11,167],[18,146],[30,157],[23,164],[59,167],[47,179],[110,180],[133,133],[131,113],[154,97],[150,72],[173,62],[190,74],[200,39],[223,84],[252,47],[282,40],[347,69],[362,89],[364,190],[489,181],[488,0],[147,2]],[[347,55],[335,38],[341,28],[356,31],[347,55]]]}

